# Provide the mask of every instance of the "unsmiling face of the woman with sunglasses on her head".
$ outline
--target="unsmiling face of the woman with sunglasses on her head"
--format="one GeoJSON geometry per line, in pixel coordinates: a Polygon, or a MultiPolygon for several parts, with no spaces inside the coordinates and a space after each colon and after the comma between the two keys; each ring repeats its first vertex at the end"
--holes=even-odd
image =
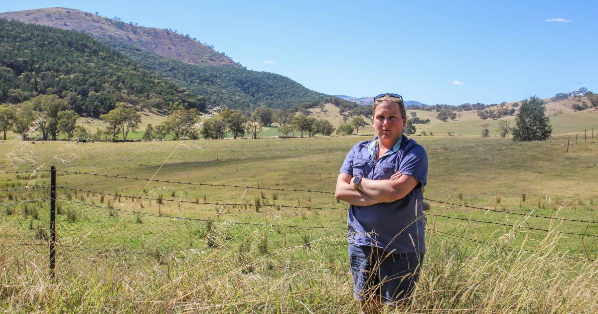
{"type": "Polygon", "coordinates": [[[401,138],[407,121],[401,116],[401,108],[396,102],[384,101],[376,106],[374,130],[380,142],[386,147],[396,144],[401,138]]]}

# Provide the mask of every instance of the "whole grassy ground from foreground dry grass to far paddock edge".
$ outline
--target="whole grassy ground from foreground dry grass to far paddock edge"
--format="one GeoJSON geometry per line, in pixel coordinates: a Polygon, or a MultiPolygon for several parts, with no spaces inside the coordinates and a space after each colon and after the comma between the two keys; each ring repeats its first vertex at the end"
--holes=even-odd
{"type": "MultiPolygon", "coordinates": [[[[0,143],[0,151],[11,156],[3,168],[12,164],[19,170],[46,169],[62,161],[59,169],[108,175],[150,178],[155,174],[156,179],[174,182],[332,191],[347,151],[365,139],[76,145],[8,141],[0,143]]],[[[598,310],[596,237],[558,233],[598,234],[596,224],[559,220],[598,220],[596,139],[572,145],[568,154],[564,137],[531,143],[499,138],[416,140],[428,151],[426,197],[555,219],[432,202],[431,214],[515,227],[428,217],[422,279],[416,298],[401,311],[598,310]]],[[[115,195],[58,189],[59,280],[51,283],[48,248],[43,244],[47,243],[48,201],[24,203],[47,196],[47,190],[0,192],[0,205],[22,203],[14,209],[0,208],[0,263],[5,267],[0,275],[0,306],[8,311],[358,310],[344,239],[346,205],[330,194],[58,175],[60,186],[115,195]],[[319,228],[306,228],[313,226],[319,228]]],[[[2,175],[0,190],[19,188],[28,181],[49,184],[44,172],[32,178],[2,175]]]]}

